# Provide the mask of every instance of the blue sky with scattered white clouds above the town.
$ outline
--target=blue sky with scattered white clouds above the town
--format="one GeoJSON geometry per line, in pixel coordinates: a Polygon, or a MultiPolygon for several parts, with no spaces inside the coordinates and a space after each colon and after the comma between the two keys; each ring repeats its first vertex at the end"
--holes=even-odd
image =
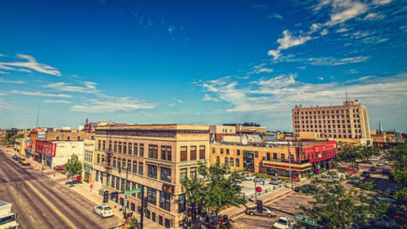
{"type": "Polygon", "coordinates": [[[2,1],[0,128],[257,122],[367,106],[407,131],[407,2],[2,1]]]}

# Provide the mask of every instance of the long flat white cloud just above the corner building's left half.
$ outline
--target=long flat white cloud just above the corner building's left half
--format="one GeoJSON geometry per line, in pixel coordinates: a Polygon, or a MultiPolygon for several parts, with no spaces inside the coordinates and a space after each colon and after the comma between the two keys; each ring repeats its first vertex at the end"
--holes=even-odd
{"type": "Polygon", "coordinates": [[[115,111],[152,109],[154,107],[154,104],[140,102],[129,97],[111,97],[108,99],[89,99],[82,105],[72,106],[70,110],[86,113],[112,113],[115,111]]]}

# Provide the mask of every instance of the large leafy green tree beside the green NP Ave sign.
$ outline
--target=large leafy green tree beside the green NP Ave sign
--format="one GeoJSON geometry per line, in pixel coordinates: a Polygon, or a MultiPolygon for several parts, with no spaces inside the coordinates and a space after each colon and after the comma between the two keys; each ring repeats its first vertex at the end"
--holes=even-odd
{"type": "MultiPolygon", "coordinates": [[[[346,229],[354,225],[369,226],[387,209],[386,203],[372,204],[373,193],[364,190],[346,190],[342,185],[323,184],[308,202],[311,207],[301,205],[300,214],[316,219],[314,228],[346,229]]],[[[309,225],[299,223],[299,226],[309,225]]]]}

